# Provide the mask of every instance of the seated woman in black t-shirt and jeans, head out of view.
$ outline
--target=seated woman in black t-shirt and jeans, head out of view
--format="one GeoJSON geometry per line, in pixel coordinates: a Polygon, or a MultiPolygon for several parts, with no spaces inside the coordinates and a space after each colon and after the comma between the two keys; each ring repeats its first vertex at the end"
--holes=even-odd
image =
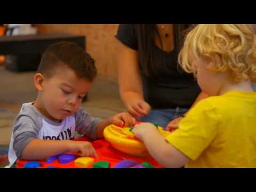
{"type": "Polygon", "coordinates": [[[189,27],[119,25],[120,94],[127,111],[137,120],[166,127],[170,121],[178,123],[193,103],[206,97],[195,78],[177,65],[183,31],[189,27]]]}

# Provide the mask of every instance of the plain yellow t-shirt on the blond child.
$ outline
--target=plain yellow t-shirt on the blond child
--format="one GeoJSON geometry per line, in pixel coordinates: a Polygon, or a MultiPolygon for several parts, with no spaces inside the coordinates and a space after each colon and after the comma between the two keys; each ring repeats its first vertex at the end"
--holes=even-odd
{"type": "Polygon", "coordinates": [[[198,102],[166,140],[190,158],[185,167],[256,167],[256,93],[198,102]]]}

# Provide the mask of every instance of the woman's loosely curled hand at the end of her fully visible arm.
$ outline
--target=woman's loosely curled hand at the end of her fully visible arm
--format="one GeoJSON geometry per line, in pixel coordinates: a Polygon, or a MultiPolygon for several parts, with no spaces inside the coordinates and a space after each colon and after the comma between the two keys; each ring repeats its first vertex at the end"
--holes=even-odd
{"type": "Polygon", "coordinates": [[[126,105],[127,111],[136,119],[147,116],[151,110],[150,105],[143,100],[133,100],[126,105]]]}

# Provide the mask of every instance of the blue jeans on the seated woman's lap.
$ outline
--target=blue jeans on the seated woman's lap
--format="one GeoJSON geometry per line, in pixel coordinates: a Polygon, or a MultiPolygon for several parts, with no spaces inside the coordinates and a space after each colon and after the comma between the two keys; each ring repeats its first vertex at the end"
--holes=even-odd
{"type": "Polygon", "coordinates": [[[186,108],[177,107],[175,109],[153,109],[149,115],[141,118],[141,122],[156,123],[165,128],[170,121],[185,114],[188,111],[186,108]]]}

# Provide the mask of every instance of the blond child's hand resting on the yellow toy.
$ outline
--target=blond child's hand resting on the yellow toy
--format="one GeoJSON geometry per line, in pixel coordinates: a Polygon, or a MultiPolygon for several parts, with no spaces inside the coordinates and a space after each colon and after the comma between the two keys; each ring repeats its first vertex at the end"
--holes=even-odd
{"type": "Polygon", "coordinates": [[[142,136],[150,133],[151,131],[157,131],[156,126],[151,123],[140,123],[138,125],[135,125],[132,129],[135,137],[137,137],[141,141],[143,141],[142,136]]]}

